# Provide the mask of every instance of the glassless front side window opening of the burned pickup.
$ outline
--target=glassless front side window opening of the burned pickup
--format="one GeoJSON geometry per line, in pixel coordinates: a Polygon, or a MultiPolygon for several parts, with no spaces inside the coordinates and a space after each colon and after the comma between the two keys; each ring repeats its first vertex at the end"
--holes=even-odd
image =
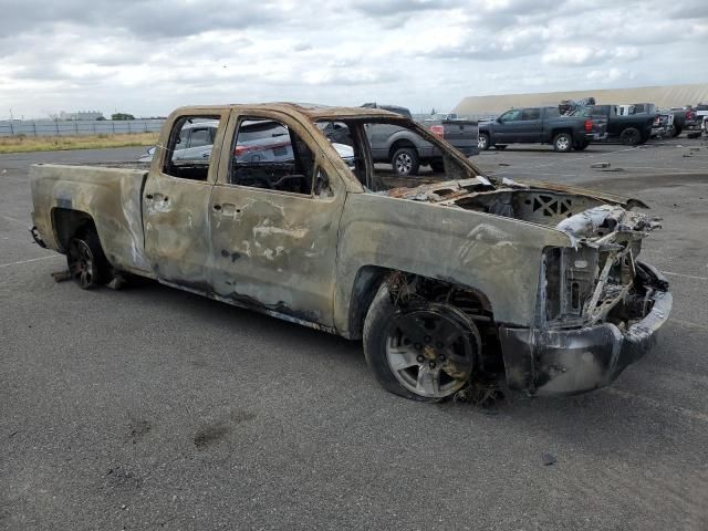
{"type": "Polygon", "coordinates": [[[244,118],[232,146],[230,184],[312,194],[314,155],[285,124],[270,118],[244,118]]]}

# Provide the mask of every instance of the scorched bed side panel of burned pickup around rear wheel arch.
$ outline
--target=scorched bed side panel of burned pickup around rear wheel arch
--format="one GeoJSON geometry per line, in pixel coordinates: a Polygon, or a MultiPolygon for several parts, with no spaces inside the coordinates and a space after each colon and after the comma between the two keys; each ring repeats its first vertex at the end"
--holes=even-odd
{"type": "Polygon", "coordinates": [[[113,267],[150,275],[140,209],[146,176],[136,169],[34,165],[30,169],[34,225],[50,248],[63,252],[54,232],[54,209],[85,212],[113,267]]]}

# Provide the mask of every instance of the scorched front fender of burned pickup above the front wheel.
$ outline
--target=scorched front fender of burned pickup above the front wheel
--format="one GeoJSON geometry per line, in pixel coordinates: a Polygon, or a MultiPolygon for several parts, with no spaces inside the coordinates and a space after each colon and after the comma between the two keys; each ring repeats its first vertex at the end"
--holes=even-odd
{"type": "Polygon", "coordinates": [[[351,194],[342,216],[336,327],[345,330],[360,268],[378,266],[479,290],[499,322],[533,321],[546,246],[569,246],[556,230],[510,218],[372,194],[351,194]]]}

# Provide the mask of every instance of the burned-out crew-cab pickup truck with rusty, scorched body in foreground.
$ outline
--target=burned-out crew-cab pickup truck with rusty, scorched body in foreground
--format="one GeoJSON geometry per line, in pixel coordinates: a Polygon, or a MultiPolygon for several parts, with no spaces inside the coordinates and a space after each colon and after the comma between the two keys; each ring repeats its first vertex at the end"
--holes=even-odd
{"type": "Polygon", "coordinates": [[[487,178],[386,111],[179,108],[149,164],[32,167],[32,233],[66,254],[81,288],[142,275],[363,340],[381,384],[408,398],[442,399],[494,372],[529,394],[601,387],[671,308],[666,280],[638,259],[657,227],[641,201],[487,178]],[[198,122],[216,125],[211,149],[176,157],[198,122]],[[374,165],[375,124],[435,145],[440,171],[374,165]],[[242,132],[254,129],[277,139],[273,153],[259,143],[252,156],[242,132]]]}

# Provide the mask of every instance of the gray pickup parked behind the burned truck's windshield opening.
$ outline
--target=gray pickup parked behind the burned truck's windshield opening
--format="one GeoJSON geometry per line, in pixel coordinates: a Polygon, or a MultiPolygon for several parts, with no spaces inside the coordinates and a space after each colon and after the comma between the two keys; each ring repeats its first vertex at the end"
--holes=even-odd
{"type": "MultiPolygon", "coordinates": [[[[396,105],[366,103],[365,108],[382,108],[412,118],[410,111],[396,105]]],[[[438,137],[459,149],[465,156],[479,153],[477,149],[477,122],[457,118],[425,121],[425,125],[438,137]]],[[[372,124],[366,129],[372,156],[376,163],[389,163],[398,175],[416,175],[421,165],[434,171],[442,168],[442,153],[427,142],[420,142],[406,129],[392,124],[372,124]]]]}

